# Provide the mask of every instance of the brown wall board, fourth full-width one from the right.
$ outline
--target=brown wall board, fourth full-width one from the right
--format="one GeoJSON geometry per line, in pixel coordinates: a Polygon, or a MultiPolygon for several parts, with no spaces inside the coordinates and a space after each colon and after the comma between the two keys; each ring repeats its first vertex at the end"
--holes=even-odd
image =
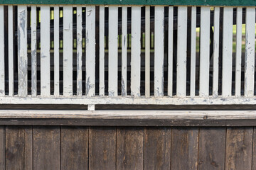
{"type": "Polygon", "coordinates": [[[145,128],[144,169],[171,168],[171,128],[145,128]]]}

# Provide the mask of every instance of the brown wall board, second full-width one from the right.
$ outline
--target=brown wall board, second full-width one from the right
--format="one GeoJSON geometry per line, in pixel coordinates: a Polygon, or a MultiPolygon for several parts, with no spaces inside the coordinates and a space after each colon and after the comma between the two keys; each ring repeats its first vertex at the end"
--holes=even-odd
{"type": "Polygon", "coordinates": [[[201,128],[198,166],[201,170],[224,169],[226,128],[201,128]]]}

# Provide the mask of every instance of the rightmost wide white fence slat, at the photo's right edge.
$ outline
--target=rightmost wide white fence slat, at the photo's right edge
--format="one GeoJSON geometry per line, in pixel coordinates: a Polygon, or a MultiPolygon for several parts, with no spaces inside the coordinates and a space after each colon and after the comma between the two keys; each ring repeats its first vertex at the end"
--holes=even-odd
{"type": "Polygon", "coordinates": [[[254,96],[255,76],[255,7],[246,8],[245,96],[254,96]]]}

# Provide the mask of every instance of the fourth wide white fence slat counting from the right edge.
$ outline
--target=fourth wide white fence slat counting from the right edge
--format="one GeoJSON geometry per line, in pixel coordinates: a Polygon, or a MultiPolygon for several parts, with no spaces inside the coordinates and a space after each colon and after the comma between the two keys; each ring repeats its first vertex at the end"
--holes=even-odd
{"type": "Polygon", "coordinates": [[[187,6],[178,6],[177,96],[186,96],[187,6]]]}

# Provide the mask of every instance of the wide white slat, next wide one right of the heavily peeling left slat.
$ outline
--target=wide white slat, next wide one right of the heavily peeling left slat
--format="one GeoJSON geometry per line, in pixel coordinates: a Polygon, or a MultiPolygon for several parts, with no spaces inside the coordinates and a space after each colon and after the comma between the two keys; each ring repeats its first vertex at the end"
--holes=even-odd
{"type": "Polygon", "coordinates": [[[41,6],[41,96],[50,96],[50,6],[41,6]]]}

